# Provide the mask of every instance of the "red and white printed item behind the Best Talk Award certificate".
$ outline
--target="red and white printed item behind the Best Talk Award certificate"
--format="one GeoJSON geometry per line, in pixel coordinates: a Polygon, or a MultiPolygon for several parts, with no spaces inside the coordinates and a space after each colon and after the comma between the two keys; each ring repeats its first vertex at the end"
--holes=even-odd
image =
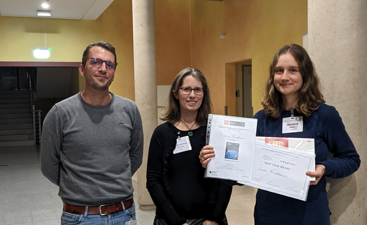
{"type": "MultiPolygon", "coordinates": [[[[276,138],[276,137],[256,137],[256,142],[277,146],[285,149],[294,149],[311,154],[315,154],[315,140],[313,138],[276,138]]],[[[315,171],[315,161],[310,171],[315,171]]],[[[310,177],[310,181],[315,181],[315,177],[310,177]]]]}

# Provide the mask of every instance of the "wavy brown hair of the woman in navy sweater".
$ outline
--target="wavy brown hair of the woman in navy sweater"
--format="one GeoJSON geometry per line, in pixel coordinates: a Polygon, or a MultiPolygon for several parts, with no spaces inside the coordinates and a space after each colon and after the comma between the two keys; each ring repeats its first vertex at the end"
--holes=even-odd
{"type": "Polygon", "coordinates": [[[309,116],[312,111],[318,109],[320,102],[325,102],[320,91],[320,81],[315,67],[306,50],[299,45],[285,45],[275,54],[269,68],[269,77],[263,89],[261,104],[265,114],[274,118],[281,116],[284,110],[282,93],[274,86],[275,67],[281,55],[291,54],[298,63],[299,73],[302,75],[302,86],[298,91],[297,112],[309,116]]]}

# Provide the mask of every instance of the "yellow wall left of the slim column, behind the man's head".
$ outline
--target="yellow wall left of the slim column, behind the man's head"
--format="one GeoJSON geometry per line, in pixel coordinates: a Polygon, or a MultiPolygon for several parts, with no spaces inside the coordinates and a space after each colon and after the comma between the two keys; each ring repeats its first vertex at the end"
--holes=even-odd
{"type": "Polygon", "coordinates": [[[131,0],[114,0],[97,20],[46,19],[46,33],[50,58],[35,59],[34,48],[45,47],[45,19],[0,16],[0,61],[81,62],[88,44],[104,40],[116,48],[119,64],[110,90],[135,99],[131,0]]]}

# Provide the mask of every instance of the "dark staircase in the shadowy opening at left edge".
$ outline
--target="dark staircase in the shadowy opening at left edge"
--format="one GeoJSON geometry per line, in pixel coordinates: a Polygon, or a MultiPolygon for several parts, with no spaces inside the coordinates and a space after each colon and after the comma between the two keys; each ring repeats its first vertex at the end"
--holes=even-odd
{"type": "Polygon", "coordinates": [[[0,147],[34,144],[29,90],[0,90],[0,147]]]}

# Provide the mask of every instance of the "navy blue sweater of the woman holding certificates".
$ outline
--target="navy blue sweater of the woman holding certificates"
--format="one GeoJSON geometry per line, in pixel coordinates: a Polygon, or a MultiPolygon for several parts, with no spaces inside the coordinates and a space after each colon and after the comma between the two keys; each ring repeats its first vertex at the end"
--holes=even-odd
{"type": "MultiPolygon", "coordinates": [[[[359,154],[333,106],[321,103],[310,116],[303,116],[303,132],[282,134],[283,118],[290,116],[290,111],[284,111],[279,118],[265,115],[264,110],[257,112],[254,116],[258,119],[256,135],[313,138],[316,164],[323,164],[325,173],[317,185],[310,186],[306,202],[259,189],[255,225],[329,225],[326,177],[342,178],[357,171],[361,163],[359,154]],[[328,159],[329,152],[333,154],[331,159],[328,159]]],[[[294,110],[294,116],[301,115],[294,110]]]]}

